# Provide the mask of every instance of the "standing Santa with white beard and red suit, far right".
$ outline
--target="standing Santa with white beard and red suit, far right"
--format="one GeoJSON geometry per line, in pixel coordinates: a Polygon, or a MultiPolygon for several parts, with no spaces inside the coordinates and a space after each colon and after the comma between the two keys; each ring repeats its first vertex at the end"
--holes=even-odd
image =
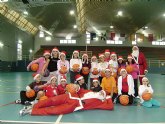
{"type": "Polygon", "coordinates": [[[132,48],[132,57],[139,67],[139,80],[142,85],[142,78],[148,72],[146,58],[142,52],[139,52],[139,48],[137,46],[133,46],[132,48]]]}

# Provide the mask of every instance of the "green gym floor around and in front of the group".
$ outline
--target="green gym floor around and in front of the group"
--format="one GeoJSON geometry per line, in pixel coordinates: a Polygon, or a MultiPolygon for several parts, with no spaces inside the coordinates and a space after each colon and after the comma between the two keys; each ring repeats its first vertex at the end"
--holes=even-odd
{"type": "Polygon", "coordinates": [[[160,108],[115,105],[113,111],[89,110],[62,116],[20,117],[18,112],[23,106],[8,103],[19,98],[19,91],[32,81],[31,73],[0,73],[0,123],[165,123],[165,75],[148,74],[148,77],[155,99],[161,102],[160,108]]]}

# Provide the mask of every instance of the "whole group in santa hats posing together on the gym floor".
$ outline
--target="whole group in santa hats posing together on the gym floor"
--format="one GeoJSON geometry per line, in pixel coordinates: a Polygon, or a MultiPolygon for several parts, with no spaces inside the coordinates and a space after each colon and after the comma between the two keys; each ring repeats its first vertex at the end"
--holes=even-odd
{"type": "Polygon", "coordinates": [[[144,92],[152,94],[153,89],[145,77],[148,72],[145,56],[139,52],[137,46],[133,46],[132,53],[128,55],[126,61],[122,56],[117,58],[117,54],[110,52],[109,49],[100,53],[98,57],[99,61],[97,56],[92,56],[89,61],[88,54],[85,53],[80,59],[79,51],[74,50],[72,58],[68,61],[66,52],[59,52],[58,48],[54,48],[51,53],[44,51],[43,57],[27,66],[30,70],[31,65],[37,63],[39,69],[34,76],[34,82],[26,87],[26,91],[20,92],[21,100],[16,100],[16,103],[33,105],[36,99],[44,95],[48,99],[36,102],[30,109],[22,109],[20,114],[49,115],[88,109],[112,110],[113,103],[120,103],[121,95],[128,95],[129,104],[133,104],[134,98],[140,98],[141,104],[145,107],[160,106],[156,100],[142,99],[144,92]],[[63,67],[65,73],[62,71],[63,67]],[[45,76],[47,71],[50,74],[45,76]],[[66,90],[70,83],[66,78],[68,73],[76,96],[66,90]],[[87,90],[88,88],[90,90],[87,90]],[[34,89],[36,94],[28,98],[26,92],[31,89],[34,89]]]}

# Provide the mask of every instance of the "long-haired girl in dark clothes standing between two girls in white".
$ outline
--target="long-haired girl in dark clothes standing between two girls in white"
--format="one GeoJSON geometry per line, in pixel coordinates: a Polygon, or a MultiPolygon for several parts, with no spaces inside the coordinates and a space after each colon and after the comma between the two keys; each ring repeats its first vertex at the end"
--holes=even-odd
{"type": "Polygon", "coordinates": [[[88,85],[88,77],[89,77],[89,73],[88,74],[84,74],[83,73],[83,68],[88,68],[89,70],[91,69],[91,63],[90,61],[88,61],[88,54],[84,53],[82,55],[82,70],[81,70],[81,75],[84,77],[84,81],[86,83],[86,85],[88,85]]]}

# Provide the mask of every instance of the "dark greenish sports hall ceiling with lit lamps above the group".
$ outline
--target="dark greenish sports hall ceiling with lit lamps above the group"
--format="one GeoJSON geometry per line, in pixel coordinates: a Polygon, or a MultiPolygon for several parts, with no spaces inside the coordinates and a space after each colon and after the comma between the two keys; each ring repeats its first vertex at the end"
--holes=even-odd
{"type": "Polygon", "coordinates": [[[19,13],[26,10],[27,20],[37,27],[42,25],[56,37],[70,33],[77,37],[86,30],[165,36],[164,0],[9,0],[6,4],[19,13]],[[75,15],[71,16],[70,10],[75,15]]]}

